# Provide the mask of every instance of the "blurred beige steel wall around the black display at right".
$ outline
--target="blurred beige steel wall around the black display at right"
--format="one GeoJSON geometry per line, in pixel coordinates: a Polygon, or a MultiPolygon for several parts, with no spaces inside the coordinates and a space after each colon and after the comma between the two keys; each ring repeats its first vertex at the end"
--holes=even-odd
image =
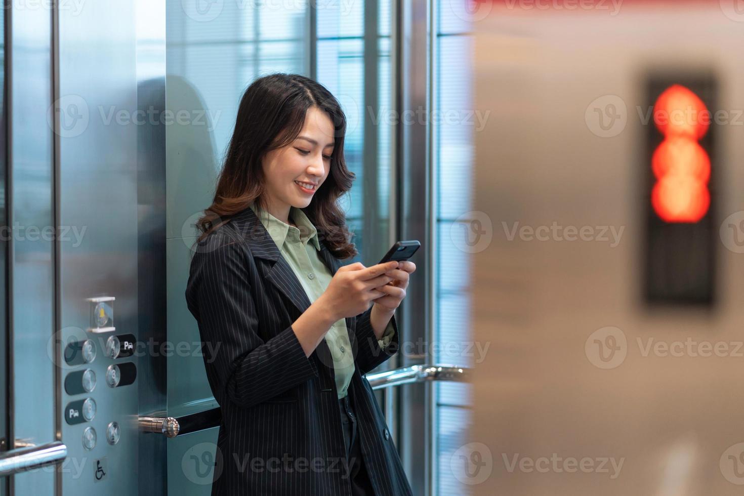
{"type": "Polygon", "coordinates": [[[494,2],[476,23],[476,108],[493,114],[475,198],[493,239],[473,256],[475,338],[492,350],[474,374],[474,495],[741,493],[744,258],[723,220],[744,206],[744,16],[725,3],[494,2]],[[644,304],[657,71],[719,82],[710,311],[644,304]]]}

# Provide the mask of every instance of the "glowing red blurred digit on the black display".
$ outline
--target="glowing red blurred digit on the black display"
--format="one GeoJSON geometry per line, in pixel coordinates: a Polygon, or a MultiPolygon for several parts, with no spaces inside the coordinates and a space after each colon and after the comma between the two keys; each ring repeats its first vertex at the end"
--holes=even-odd
{"type": "Polygon", "coordinates": [[[711,204],[711,159],[698,143],[711,125],[710,112],[688,88],[673,85],[658,97],[653,114],[664,135],[652,158],[654,211],[665,222],[698,222],[711,204]]]}

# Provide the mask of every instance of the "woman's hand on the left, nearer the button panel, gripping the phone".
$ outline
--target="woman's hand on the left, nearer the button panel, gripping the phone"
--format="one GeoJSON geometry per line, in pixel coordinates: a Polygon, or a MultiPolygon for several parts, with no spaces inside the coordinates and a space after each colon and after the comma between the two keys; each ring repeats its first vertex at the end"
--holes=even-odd
{"type": "Polygon", "coordinates": [[[325,292],[321,294],[330,315],[338,321],[366,312],[371,301],[387,294],[376,288],[394,280],[394,277],[385,273],[397,266],[398,263],[392,261],[370,267],[359,262],[339,267],[325,292]]]}

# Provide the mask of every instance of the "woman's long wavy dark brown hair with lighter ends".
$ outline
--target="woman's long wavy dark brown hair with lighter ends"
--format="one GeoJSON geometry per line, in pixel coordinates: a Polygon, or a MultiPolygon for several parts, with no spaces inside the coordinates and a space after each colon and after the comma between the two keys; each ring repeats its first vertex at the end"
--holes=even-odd
{"type": "Polygon", "coordinates": [[[356,178],[344,161],[346,116],[330,91],[300,74],[268,74],[254,80],[243,93],[214,200],[196,222],[201,231],[196,243],[251,203],[259,209],[266,208],[263,158],[267,152],[295,141],[304,126],[307,109],[312,106],[326,112],[333,122],[334,147],[330,172],[302,211],[335,257],[356,256],[346,216],[337,202],[356,178]]]}

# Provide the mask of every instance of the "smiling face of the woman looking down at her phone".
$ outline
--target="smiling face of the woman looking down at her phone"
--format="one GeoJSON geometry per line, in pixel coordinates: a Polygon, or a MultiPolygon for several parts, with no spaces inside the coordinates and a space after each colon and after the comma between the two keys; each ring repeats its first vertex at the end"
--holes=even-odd
{"type": "Polygon", "coordinates": [[[330,173],[334,128],[330,117],[310,107],[304,126],[287,146],[268,152],[263,159],[269,213],[280,220],[289,207],[304,208],[330,173]],[[301,186],[298,182],[309,183],[301,186]]]}

